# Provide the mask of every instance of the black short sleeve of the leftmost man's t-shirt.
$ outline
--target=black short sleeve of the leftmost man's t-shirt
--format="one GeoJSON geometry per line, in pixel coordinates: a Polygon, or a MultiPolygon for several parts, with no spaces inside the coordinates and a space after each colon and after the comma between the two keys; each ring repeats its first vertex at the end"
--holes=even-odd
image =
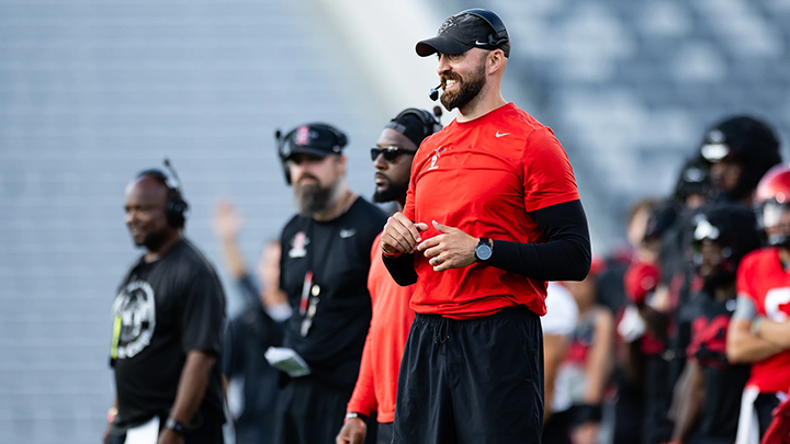
{"type": "Polygon", "coordinates": [[[225,294],[210,270],[201,270],[183,295],[181,343],[184,352],[219,353],[225,323],[225,294]]]}

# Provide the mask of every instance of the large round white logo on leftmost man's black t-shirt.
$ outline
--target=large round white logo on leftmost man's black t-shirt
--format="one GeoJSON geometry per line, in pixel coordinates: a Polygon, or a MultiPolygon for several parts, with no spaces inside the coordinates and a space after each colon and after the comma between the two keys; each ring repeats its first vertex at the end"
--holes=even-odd
{"type": "Polygon", "coordinates": [[[134,281],[121,289],[113,301],[113,318],[121,320],[117,358],[133,357],[150,344],[156,328],[154,288],[144,281],[134,281]]]}

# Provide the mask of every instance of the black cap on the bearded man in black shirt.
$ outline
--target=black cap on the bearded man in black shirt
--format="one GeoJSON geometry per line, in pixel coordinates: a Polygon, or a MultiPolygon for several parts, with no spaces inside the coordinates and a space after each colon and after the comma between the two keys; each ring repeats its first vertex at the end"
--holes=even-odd
{"type": "Polygon", "coordinates": [[[282,160],[300,153],[317,157],[339,155],[348,144],[348,137],[340,129],[323,123],[300,125],[284,137],[280,137],[278,132],[276,138],[282,160]]]}

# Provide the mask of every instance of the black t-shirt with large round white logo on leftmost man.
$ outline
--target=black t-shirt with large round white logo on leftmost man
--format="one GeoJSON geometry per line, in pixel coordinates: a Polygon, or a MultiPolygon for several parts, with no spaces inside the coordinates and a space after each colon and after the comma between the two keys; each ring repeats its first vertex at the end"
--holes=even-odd
{"type": "MultiPolygon", "coordinates": [[[[214,267],[189,241],[158,261],[143,258],[113,303],[111,365],[115,368],[117,430],[167,415],[176,401],[187,353],[219,355],[225,294],[214,267]]],[[[219,365],[210,375],[193,424],[224,421],[219,365]]]]}

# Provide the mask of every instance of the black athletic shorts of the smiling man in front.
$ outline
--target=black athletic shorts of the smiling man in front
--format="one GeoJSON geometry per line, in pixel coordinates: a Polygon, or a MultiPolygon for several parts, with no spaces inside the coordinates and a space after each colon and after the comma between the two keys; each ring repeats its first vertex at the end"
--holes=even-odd
{"type": "Polygon", "coordinates": [[[400,363],[394,444],[539,444],[542,425],[538,315],[417,315],[400,363]]]}

